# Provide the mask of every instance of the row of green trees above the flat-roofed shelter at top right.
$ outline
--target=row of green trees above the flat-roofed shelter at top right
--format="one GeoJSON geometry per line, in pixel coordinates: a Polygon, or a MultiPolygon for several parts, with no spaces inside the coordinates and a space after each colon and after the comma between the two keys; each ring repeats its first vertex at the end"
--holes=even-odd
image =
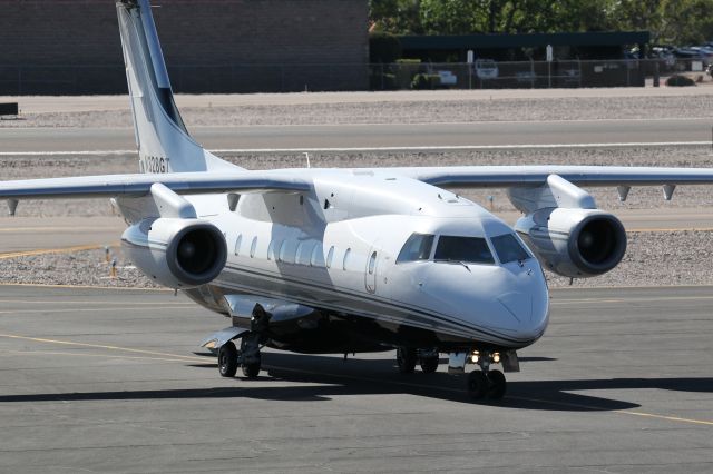
{"type": "Polygon", "coordinates": [[[648,30],[654,42],[713,40],[713,0],[370,0],[378,31],[472,34],[648,30]]]}

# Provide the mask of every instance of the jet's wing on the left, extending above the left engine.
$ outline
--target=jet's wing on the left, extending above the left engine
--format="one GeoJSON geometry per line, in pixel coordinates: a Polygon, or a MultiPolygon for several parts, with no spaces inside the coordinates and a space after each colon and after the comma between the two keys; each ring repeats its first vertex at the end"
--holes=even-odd
{"type": "Polygon", "coordinates": [[[144,196],[162,184],[179,195],[203,192],[299,192],[312,184],[297,175],[280,171],[172,172],[102,175],[72,178],[0,181],[0,199],[52,199],[144,196]]]}

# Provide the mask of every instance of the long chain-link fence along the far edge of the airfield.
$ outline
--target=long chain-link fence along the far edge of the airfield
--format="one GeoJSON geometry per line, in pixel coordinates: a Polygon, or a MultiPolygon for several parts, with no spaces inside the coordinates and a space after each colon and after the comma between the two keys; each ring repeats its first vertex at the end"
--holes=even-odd
{"type": "MultiPolygon", "coordinates": [[[[707,61],[626,59],[597,61],[478,60],[473,63],[403,61],[388,65],[173,66],[174,90],[186,93],[407,89],[642,87],[674,73],[705,77],[707,61]]],[[[0,66],[0,95],[126,93],[120,65],[0,66]]]]}

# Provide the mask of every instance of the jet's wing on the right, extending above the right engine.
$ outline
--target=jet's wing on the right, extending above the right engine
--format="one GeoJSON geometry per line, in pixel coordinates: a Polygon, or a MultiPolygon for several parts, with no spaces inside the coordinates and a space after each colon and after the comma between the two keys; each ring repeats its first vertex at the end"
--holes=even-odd
{"type": "Polygon", "coordinates": [[[558,175],[577,186],[676,186],[713,184],[713,168],[625,166],[456,166],[390,168],[392,172],[443,188],[539,186],[558,175]]]}

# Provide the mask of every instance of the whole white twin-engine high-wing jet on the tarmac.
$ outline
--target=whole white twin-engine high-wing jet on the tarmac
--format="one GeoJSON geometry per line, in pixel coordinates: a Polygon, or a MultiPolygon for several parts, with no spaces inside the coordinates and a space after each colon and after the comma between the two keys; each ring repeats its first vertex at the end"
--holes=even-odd
{"type": "Polygon", "coordinates": [[[711,169],[578,166],[245,170],[204,150],[176,109],[148,0],[116,3],[139,155],[136,175],[0,182],[21,199],[110,198],[125,251],[154,282],[231,317],[204,347],[222,376],[297,353],[397,348],[399,369],[465,372],[475,399],[505,395],[517,349],[549,316],[543,267],[614,268],[626,234],[579,186],[713,182],[711,169]],[[515,230],[446,188],[504,187],[515,230]],[[240,349],[234,340],[240,339],[240,349]]]}

